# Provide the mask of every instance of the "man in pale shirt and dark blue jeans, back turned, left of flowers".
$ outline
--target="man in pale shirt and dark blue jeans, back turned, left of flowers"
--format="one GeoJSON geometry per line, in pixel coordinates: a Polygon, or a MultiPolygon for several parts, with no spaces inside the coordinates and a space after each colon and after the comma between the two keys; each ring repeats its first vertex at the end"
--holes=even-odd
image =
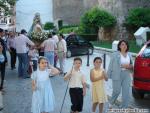
{"type": "Polygon", "coordinates": [[[21,34],[15,38],[16,52],[19,60],[18,77],[27,78],[28,54],[27,45],[34,46],[34,43],[25,35],[27,32],[22,29],[21,34]]]}

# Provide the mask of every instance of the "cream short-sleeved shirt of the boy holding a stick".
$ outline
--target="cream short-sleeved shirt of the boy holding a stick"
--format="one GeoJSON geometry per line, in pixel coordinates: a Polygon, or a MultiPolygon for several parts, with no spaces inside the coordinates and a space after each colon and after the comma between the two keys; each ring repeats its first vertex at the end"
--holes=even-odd
{"type": "Polygon", "coordinates": [[[70,73],[71,79],[69,82],[69,88],[83,88],[83,83],[85,83],[86,80],[82,72],[73,69],[72,72],[70,71],[68,74],[70,73]]]}

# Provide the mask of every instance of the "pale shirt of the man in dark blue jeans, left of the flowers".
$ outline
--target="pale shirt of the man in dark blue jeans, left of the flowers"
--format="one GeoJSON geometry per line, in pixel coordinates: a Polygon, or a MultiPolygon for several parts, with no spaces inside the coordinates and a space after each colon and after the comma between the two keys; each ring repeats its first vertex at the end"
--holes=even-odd
{"type": "Polygon", "coordinates": [[[34,46],[34,43],[25,35],[21,34],[15,38],[15,48],[17,53],[27,53],[27,44],[34,46]]]}

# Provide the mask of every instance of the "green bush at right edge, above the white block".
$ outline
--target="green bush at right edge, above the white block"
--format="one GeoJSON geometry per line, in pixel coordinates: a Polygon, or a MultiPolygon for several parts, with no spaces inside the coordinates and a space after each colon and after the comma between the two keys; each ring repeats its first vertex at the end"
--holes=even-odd
{"type": "Polygon", "coordinates": [[[139,27],[150,27],[150,8],[135,8],[129,11],[125,20],[127,29],[136,30],[139,27]]]}

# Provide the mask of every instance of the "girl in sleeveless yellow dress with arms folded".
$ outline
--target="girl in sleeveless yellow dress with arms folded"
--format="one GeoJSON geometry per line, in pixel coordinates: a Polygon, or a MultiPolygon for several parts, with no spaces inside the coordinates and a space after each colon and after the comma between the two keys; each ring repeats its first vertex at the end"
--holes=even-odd
{"type": "Polygon", "coordinates": [[[101,57],[94,58],[94,68],[91,69],[90,79],[92,82],[92,112],[94,113],[99,104],[99,113],[103,112],[103,105],[107,102],[107,96],[104,90],[104,80],[108,80],[105,70],[101,68],[101,57]]]}

